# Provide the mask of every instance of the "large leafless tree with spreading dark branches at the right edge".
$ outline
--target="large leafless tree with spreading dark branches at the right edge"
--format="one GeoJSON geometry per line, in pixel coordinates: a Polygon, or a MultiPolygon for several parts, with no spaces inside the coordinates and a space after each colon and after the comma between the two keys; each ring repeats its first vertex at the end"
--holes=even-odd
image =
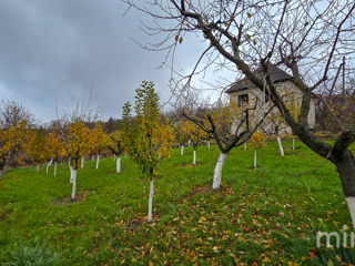
{"type": "MultiPolygon", "coordinates": [[[[182,83],[190,83],[192,76],[201,71],[201,68],[219,73],[235,71],[261,94],[267,95],[292,133],[335,165],[355,227],[355,158],[348,150],[355,142],[355,121],[344,124],[343,132],[332,144],[317,137],[308,122],[312,96],[322,95],[321,85],[333,83],[344,57],[348,62],[344,80],[354,72],[353,0],[307,1],[302,4],[288,0],[123,1],[156,19],[152,24],[145,24],[145,30],[154,33],[156,39],[163,38],[164,41],[156,42],[170,57],[183,49],[182,38],[187,42],[185,35],[190,33],[200,37],[190,39],[194,48],[197,49],[197,43],[202,47],[201,42],[204,42],[204,50],[196,53],[197,63],[192,73],[178,73],[178,76],[185,78],[179,78],[182,83]],[[277,91],[270,63],[292,75],[292,85],[300,91],[301,112],[297,117],[292,115],[277,91]],[[255,66],[261,66],[262,75],[253,72],[255,66]]],[[[154,44],[148,49],[156,51],[158,45],[154,44]]],[[[176,72],[174,65],[169,66],[173,73],[176,72]]]]}

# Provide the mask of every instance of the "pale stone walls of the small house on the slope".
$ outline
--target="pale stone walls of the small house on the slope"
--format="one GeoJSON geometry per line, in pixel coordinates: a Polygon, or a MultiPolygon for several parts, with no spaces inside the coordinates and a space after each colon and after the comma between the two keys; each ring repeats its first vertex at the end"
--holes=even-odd
{"type": "MultiPolygon", "coordinates": [[[[301,104],[302,104],[302,91],[291,81],[284,81],[275,83],[276,89],[280,93],[280,95],[283,98],[285,104],[291,110],[293,116],[297,119],[300,111],[301,111],[301,104]]],[[[248,95],[248,108],[252,108],[255,105],[255,102],[257,102],[255,111],[251,111],[251,125],[255,125],[260,119],[263,116],[263,95],[261,91],[256,88],[251,88],[247,90],[233,92],[230,94],[230,101],[231,103],[234,103],[239,105],[239,96],[247,94],[248,95]]],[[[268,101],[265,104],[265,111],[267,111],[271,106],[271,101],[268,101]]],[[[242,109],[246,108],[245,104],[242,105],[242,109]]],[[[310,113],[308,113],[308,125],[311,129],[315,125],[315,104],[312,101],[310,106],[310,113]]],[[[232,132],[235,131],[236,123],[232,125],[232,132]]],[[[263,129],[270,133],[275,134],[276,129],[278,129],[278,134],[281,135],[288,135],[292,134],[292,130],[290,126],[287,126],[282,119],[282,115],[280,114],[278,110],[274,109],[265,119],[263,123],[263,129]]]]}

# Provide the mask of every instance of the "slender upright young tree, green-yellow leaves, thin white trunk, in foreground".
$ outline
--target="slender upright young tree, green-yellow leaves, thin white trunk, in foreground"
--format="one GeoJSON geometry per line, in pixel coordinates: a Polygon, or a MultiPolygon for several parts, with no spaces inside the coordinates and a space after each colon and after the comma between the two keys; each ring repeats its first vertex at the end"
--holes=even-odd
{"type": "Polygon", "coordinates": [[[154,83],[143,81],[135,93],[135,117],[131,116],[129,103],[123,106],[123,139],[126,152],[150,181],[148,222],[152,222],[155,167],[170,156],[173,134],[170,126],[161,123],[154,83]]]}

